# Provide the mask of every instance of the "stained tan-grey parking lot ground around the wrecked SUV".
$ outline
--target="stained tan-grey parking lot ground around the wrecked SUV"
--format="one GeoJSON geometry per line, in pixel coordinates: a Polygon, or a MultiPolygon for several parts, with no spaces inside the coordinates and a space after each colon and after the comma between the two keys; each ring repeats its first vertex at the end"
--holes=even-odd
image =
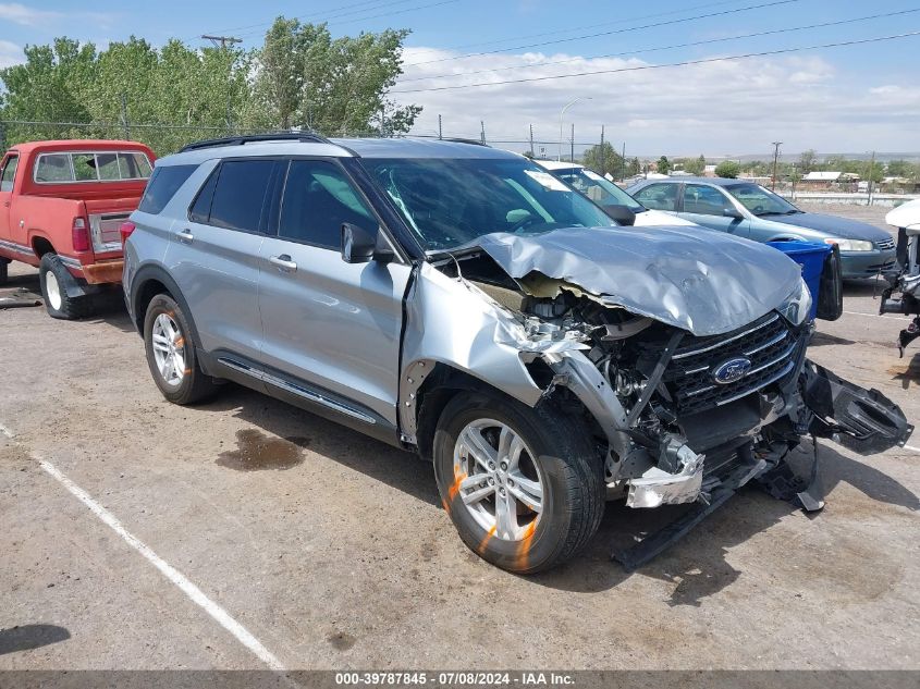
{"type": "MultiPolygon", "coordinates": [[[[873,290],[847,286],[811,356],[916,422],[920,364],[873,290]]],[[[920,667],[920,439],[822,444],[822,513],[745,490],[631,575],[612,547],[673,508],[612,503],[586,553],[517,577],[463,545],[412,455],[233,385],[164,402],[118,300],[0,310],[0,669],[266,667],[41,460],[287,668],[920,667]]]]}

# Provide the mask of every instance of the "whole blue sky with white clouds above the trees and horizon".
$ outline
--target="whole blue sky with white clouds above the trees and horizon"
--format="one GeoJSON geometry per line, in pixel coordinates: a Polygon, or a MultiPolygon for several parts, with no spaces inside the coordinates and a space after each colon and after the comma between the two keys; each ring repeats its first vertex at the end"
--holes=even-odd
{"type": "Polygon", "coordinates": [[[0,2],[0,66],[21,61],[23,46],[61,35],[98,46],[131,35],[198,46],[201,34],[220,34],[256,47],[274,16],[296,16],[328,21],[334,35],[410,29],[392,97],[424,107],[417,134],[437,134],[440,114],[444,136],[478,138],[484,126],[490,142],[524,150],[529,145],[512,142],[526,142],[532,125],[538,152],[555,155],[561,110],[580,99],[563,118],[566,147],[575,125],[576,151],[597,143],[602,125],[627,156],[768,157],[772,142],[787,155],[920,151],[920,36],[818,47],[920,32],[920,0],[267,4],[0,2]],[[799,47],[809,49],[720,60],[799,47]],[[688,61],[703,62],[667,66],[688,61]],[[603,73],[542,78],[580,72],[603,73]],[[444,88],[454,86],[463,88],[444,88]]]}

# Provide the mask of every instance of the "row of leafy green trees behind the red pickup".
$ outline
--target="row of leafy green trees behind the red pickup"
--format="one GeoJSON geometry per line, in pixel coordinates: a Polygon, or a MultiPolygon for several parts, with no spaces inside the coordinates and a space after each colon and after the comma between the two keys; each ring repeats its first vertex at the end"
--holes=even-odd
{"type": "Polygon", "coordinates": [[[5,144],[48,138],[121,138],[158,155],[234,133],[311,127],[324,134],[409,130],[421,111],[387,91],[402,73],[405,30],[333,39],[326,25],[279,17],[260,49],[155,48],[131,37],[98,51],[58,38],[28,46],[0,70],[5,144]],[[127,123],[127,127],[124,123],[127,123]]]}

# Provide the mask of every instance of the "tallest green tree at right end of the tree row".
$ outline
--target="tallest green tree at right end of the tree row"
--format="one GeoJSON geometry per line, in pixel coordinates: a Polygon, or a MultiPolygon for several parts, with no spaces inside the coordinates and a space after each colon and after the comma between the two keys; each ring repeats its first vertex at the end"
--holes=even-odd
{"type": "Polygon", "coordinates": [[[333,39],[326,24],[278,17],[255,53],[254,107],[248,123],[324,134],[407,132],[419,106],[387,98],[402,74],[407,30],[333,39]],[[381,118],[383,122],[381,122],[381,118]],[[377,126],[375,126],[377,123],[377,126]]]}

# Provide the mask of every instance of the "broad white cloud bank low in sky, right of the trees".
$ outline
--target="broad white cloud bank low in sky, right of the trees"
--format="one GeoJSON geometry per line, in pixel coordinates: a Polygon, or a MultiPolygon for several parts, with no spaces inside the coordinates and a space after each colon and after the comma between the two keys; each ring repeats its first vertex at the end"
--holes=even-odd
{"type": "MultiPolygon", "coordinates": [[[[450,51],[407,48],[404,79],[482,71],[433,81],[403,81],[393,90],[643,67],[638,59],[580,58],[572,54],[488,54],[455,59],[450,51]],[[428,63],[431,60],[447,60],[428,63]],[[540,64],[565,60],[564,64],[540,64]],[[526,70],[504,67],[528,65],[526,70]]],[[[609,140],[626,140],[627,155],[740,155],[772,150],[784,142],[794,152],[920,150],[920,84],[859,84],[814,56],[751,58],[599,74],[593,76],[501,84],[479,88],[394,94],[400,102],[425,107],[414,133],[436,134],[438,114],[444,135],[476,136],[480,121],[490,139],[535,136],[555,152],[560,109],[576,97],[591,97],[566,113],[576,123],[577,142],[597,142],[600,125],[609,140]]],[[[501,145],[501,144],[498,144],[501,145]]],[[[507,145],[524,150],[524,145],[507,145]]]]}

